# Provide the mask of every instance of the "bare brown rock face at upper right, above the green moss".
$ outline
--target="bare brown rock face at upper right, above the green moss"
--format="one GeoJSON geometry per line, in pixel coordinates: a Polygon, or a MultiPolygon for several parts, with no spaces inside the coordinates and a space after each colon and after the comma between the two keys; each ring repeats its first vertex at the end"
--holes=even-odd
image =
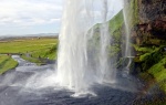
{"type": "Polygon", "coordinates": [[[166,0],[137,0],[138,23],[135,43],[159,45],[166,42],[166,0]],[[155,40],[155,41],[154,41],[155,40]],[[158,41],[159,40],[159,41],[158,41]]]}

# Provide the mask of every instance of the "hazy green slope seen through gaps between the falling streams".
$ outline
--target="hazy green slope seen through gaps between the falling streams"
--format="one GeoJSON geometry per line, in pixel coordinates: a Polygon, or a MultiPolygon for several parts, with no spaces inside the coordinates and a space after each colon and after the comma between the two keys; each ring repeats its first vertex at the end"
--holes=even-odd
{"type": "MultiPolygon", "coordinates": [[[[92,53],[95,52],[95,53],[93,53],[93,55],[91,55],[91,57],[94,57],[94,61],[97,61],[96,56],[98,56],[97,52],[100,52],[101,25],[102,25],[102,23],[97,23],[89,31],[89,34],[91,34],[91,32],[93,32],[93,38],[91,38],[89,40],[89,52],[92,52],[92,53]],[[92,48],[93,48],[93,51],[92,51],[92,48]]],[[[107,21],[107,25],[108,25],[110,35],[112,39],[112,41],[111,41],[112,43],[107,46],[107,50],[110,52],[108,56],[111,59],[118,57],[121,55],[121,43],[122,43],[121,36],[124,33],[121,30],[124,25],[123,11],[120,11],[110,21],[107,21]]],[[[115,65],[118,65],[117,64],[117,62],[120,61],[118,59],[117,59],[117,61],[114,61],[115,65]]]]}

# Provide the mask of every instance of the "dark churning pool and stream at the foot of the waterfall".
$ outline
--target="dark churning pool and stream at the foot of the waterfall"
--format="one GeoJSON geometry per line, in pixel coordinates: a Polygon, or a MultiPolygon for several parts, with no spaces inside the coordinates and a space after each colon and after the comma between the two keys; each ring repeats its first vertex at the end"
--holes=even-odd
{"type": "MultiPolygon", "coordinates": [[[[38,66],[18,55],[12,57],[19,66],[0,75],[0,105],[134,105],[144,95],[137,78],[118,72],[116,83],[94,84],[91,91],[95,95],[75,97],[74,92],[55,83],[54,64],[38,66]]],[[[152,93],[142,97],[151,101],[152,93]]]]}

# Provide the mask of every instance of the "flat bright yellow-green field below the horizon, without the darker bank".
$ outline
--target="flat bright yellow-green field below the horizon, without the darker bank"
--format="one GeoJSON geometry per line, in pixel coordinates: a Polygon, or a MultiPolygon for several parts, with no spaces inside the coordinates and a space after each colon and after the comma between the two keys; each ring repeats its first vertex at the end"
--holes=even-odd
{"type": "Polygon", "coordinates": [[[51,49],[56,45],[56,39],[21,39],[0,42],[0,53],[27,53],[51,49]]]}

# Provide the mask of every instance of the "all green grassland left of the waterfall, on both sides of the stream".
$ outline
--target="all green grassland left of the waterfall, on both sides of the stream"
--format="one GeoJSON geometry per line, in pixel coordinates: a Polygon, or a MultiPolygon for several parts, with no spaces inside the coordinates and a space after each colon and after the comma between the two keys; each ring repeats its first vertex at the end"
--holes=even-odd
{"type": "MultiPolygon", "coordinates": [[[[44,60],[55,60],[59,40],[54,38],[33,38],[0,41],[0,54],[19,53],[21,57],[37,63],[38,65],[45,64],[44,60]],[[27,56],[30,54],[31,56],[27,56]]],[[[8,70],[14,69],[18,62],[11,56],[0,55],[0,74],[8,70]]]]}

